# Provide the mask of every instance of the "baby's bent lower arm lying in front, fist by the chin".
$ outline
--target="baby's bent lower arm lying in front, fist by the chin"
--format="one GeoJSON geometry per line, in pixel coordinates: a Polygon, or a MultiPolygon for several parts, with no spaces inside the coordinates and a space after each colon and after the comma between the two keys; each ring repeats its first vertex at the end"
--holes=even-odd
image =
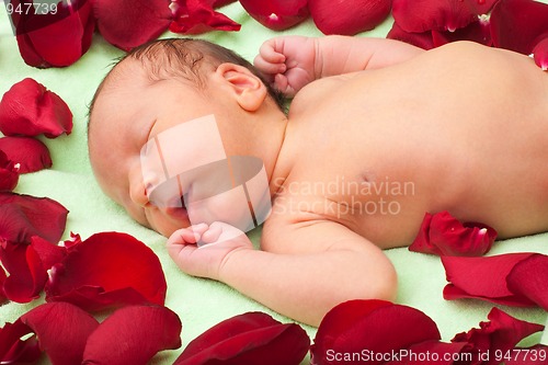
{"type": "Polygon", "coordinates": [[[395,298],[396,273],[381,250],[335,223],[265,227],[270,251],[254,250],[244,235],[201,249],[178,236],[168,246],[184,272],[224,282],[305,323],[318,326],[345,300],[395,298]]]}

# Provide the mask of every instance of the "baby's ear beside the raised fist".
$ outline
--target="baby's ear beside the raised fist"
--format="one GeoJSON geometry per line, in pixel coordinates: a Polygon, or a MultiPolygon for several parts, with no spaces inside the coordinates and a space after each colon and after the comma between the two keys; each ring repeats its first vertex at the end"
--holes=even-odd
{"type": "Polygon", "coordinates": [[[217,67],[216,75],[221,77],[233,92],[238,104],[248,112],[255,112],[266,98],[264,83],[248,68],[230,62],[217,67]]]}

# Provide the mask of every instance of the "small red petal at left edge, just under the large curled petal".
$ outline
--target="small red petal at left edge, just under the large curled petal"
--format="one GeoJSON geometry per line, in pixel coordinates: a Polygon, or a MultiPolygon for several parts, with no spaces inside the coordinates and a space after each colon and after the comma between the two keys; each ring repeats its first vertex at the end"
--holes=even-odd
{"type": "Polygon", "coordinates": [[[52,157],[47,146],[35,138],[2,137],[0,151],[3,151],[8,159],[20,164],[19,173],[35,172],[52,167],[52,157]]]}

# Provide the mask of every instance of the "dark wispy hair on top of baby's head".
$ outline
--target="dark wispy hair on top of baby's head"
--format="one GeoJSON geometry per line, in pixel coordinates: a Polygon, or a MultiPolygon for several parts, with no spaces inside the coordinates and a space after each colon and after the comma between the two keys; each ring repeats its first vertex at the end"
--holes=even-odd
{"type": "MultiPolygon", "coordinates": [[[[197,87],[203,87],[204,84],[203,73],[199,70],[204,62],[208,62],[213,67],[217,67],[224,62],[243,66],[264,83],[276,105],[282,111],[285,111],[284,95],[271,87],[261,71],[233,50],[212,42],[193,38],[156,39],[132,49],[124,57],[119,58],[116,65],[126,58],[134,58],[141,61],[142,67],[148,71],[148,78],[151,82],[182,78],[194,82],[197,87]]],[[[109,76],[99,85],[91,102],[90,112],[107,79],[109,76]]]]}

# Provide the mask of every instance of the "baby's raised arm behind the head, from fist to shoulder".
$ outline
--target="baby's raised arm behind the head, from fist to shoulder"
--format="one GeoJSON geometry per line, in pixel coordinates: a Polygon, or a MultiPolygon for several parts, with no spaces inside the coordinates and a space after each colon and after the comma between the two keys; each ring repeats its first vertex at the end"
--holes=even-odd
{"type": "Polygon", "coordinates": [[[293,96],[316,79],[396,65],[423,52],[385,38],[281,36],[263,43],[254,64],[275,88],[293,96]]]}

